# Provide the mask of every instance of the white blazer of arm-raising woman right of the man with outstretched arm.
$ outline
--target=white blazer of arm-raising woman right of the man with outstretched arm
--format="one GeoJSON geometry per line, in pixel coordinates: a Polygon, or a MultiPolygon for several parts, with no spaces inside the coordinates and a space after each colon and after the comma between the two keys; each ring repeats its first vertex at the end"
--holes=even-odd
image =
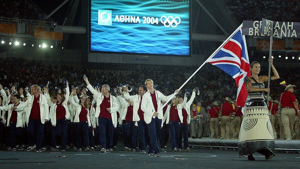
{"type": "MultiPolygon", "coordinates": [[[[65,111],[66,111],[65,118],[69,119],[70,113],[69,113],[69,107],[68,107],[68,100],[69,100],[70,91],[69,91],[69,87],[66,87],[65,89],[66,89],[65,101],[61,104],[65,108],[65,111]]],[[[48,101],[48,103],[49,103],[49,101],[48,101]]],[[[50,116],[51,123],[53,126],[56,126],[56,108],[57,108],[57,103],[53,103],[50,107],[50,112],[49,112],[49,116],[50,116]]]]}

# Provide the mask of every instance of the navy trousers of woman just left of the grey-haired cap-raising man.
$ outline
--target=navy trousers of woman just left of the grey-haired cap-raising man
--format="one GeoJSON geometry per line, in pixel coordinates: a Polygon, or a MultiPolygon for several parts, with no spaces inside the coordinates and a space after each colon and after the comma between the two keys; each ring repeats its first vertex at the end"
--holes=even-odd
{"type": "Polygon", "coordinates": [[[89,147],[89,123],[88,122],[74,122],[74,130],[76,137],[76,147],[89,147]],[[83,145],[81,145],[81,136],[83,138],[83,145]]]}

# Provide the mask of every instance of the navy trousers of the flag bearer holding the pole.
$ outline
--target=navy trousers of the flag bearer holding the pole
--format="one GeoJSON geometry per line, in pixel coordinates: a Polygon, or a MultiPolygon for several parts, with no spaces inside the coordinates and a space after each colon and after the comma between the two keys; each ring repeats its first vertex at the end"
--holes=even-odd
{"type": "Polygon", "coordinates": [[[147,124],[147,126],[150,137],[148,154],[159,154],[158,136],[160,134],[161,119],[158,119],[157,117],[155,117],[155,119],[151,118],[151,122],[147,124]]]}

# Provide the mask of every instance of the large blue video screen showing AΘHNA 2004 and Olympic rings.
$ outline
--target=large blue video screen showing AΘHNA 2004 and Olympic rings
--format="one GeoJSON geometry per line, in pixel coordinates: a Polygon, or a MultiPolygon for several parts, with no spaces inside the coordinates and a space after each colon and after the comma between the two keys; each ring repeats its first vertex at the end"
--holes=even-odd
{"type": "Polygon", "coordinates": [[[189,55],[189,0],[91,0],[91,51],[189,55]]]}

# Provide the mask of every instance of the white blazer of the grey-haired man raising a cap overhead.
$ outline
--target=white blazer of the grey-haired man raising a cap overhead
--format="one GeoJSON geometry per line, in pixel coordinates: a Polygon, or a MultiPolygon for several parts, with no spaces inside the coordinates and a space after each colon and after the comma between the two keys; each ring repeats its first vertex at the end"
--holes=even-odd
{"type": "MultiPolygon", "coordinates": [[[[104,99],[104,95],[101,92],[97,92],[91,84],[87,86],[89,91],[93,93],[93,95],[96,95],[97,98],[97,107],[96,107],[96,113],[95,117],[99,117],[100,114],[100,105],[104,99]]],[[[109,94],[110,95],[110,94],[109,94]]],[[[94,98],[94,99],[96,99],[94,98]]],[[[113,126],[116,128],[117,127],[117,111],[119,110],[119,105],[117,103],[117,98],[113,95],[110,95],[110,114],[112,116],[112,121],[113,121],[113,126]]]]}

